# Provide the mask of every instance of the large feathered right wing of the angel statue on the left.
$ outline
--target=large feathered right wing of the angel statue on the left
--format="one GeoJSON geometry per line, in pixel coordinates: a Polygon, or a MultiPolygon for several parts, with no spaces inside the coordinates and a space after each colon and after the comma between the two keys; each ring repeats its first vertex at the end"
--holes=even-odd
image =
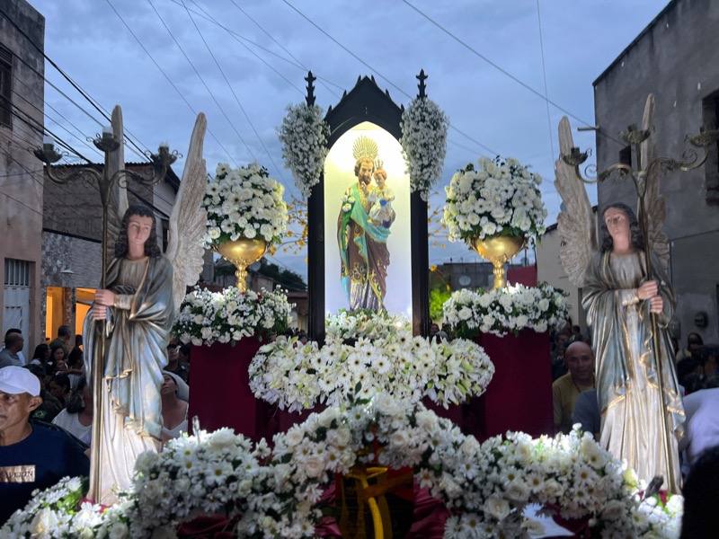
{"type": "Polygon", "coordinates": [[[205,249],[200,245],[200,238],[205,233],[208,216],[202,208],[202,198],[208,172],[202,158],[202,143],[207,128],[208,120],[200,112],[192,129],[180,190],[170,214],[170,242],[165,256],[173,264],[175,309],[180,308],[187,287],[197,282],[203,266],[205,249]]]}

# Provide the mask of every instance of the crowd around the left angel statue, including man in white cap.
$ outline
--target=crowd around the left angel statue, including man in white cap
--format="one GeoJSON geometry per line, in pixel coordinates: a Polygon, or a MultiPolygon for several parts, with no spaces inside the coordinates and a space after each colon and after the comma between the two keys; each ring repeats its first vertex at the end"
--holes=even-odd
{"type": "MultiPolygon", "coordinates": [[[[62,325],[58,338],[22,355],[19,328],[5,332],[0,350],[0,526],[25,506],[31,492],[62,477],[90,473],[93,391],[84,365],[83,342],[62,325]]],[[[188,431],[190,346],[167,345],[160,390],[162,441],[188,431]]]]}

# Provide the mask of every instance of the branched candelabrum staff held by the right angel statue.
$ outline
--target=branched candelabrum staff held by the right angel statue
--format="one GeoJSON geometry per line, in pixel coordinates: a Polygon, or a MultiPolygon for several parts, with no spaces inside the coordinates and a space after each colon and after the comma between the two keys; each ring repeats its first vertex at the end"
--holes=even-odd
{"type": "MultiPolygon", "coordinates": [[[[652,98],[650,98],[652,99],[652,98]]],[[[652,100],[652,108],[653,108],[653,100],[652,100]]],[[[647,109],[650,110],[650,101],[647,102],[647,109]]],[[[651,112],[650,112],[651,113],[651,112]]],[[[644,165],[644,169],[642,169],[642,152],[643,143],[651,136],[652,132],[652,126],[648,125],[649,123],[648,115],[645,113],[644,117],[644,125],[642,129],[637,128],[636,125],[631,125],[627,128],[626,131],[622,131],[619,134],[619,137],[627,144],[632,146],[633,151],[635,152],[635,155],[637,156],[636,163],[640,167],[639,169],[634,169],[631,164],[627,163],[615,163],[609,166],[606,170],[599,172],[599,174],[596,176],[596,178],[584,178],[581,175],[580,172],[580,166],[582,163],[584,163],[587,160],[587,157],[589,155],[589,152],[581,152],[580,148],[573,147],[570,150],[569,154],[561,154],[559,157],[562,159],[564,163],[567,163],[570,166],[573,166],[574,168],[574,174],[577,177],[579,181],[582,181],[584,183],[598,183],[600,181],[605,181],[611,176],[618,174],[620,180],[626,180],[626,178],[630,178],[634,185],[637,197],[639,199],[639,214],[640,214],[640,226],[642,228],[642,234],[644,236],[644,264],[646,267],[646,275],[647,277],[652,275],[652,260],[651,260],[651,244],[649,241],[649,221],[647,216],[646,207],[644,204],[644,198],[647,193],[647,187],[648,185],[653,182],[654,184],[650,187],[652,189],[656,189],[657,192],[659,190],[659,177],[661,176],[662,172],[668,172],[668,171],[692,171],[700,167],[702,164],[706,162],[706,158],[709,155],[709,147],[716,143],[717,140],[719,140],[719,131],[717,130],[709,130],[706,128],[700,128],[700,131],[697,135],[694,136],[687,136],[686,140],[691,146],[694,146],[693,148],[688,148],[684,154],[682,155],[681,159],[674,159],[671,157],[653,157],[651,160],[649,160],[648,163],[644,165]],[[699,156],[697,154],[697,150],[694,148],[701,148],[703,150],[703,154],[699,156]]],[[[648,147],[644,148],[648,152],[648,147]]],[[[588,167],[588,170],[590,170],[593,167],[588,167]]],[[[587,172],[587,170],[585,170],[587,172]]],[[[675,478],[673,476],[673,473],[671,473],[672,466],[671,466],[671,457],[670,457],[670,432],[669,429],[667,429],[667,417],[666,417],[666,402],[664,398],[664,378],[662,373],[662,364],[661,364],[661,358],[659,357],[660,353],[660,340],[659,340],[659,332],[658,332],[658,323],[657,323],[657,314],[652,313],[651,314],[651,321],[652,321],[652,349],[654,351],[654,358],[656,360],[656,369],[657,369],[657,378],[658,378],[658,386],[659,386],[659,396],[660,396],[660,417],[661,417],[661,428],[663,430],[662,434],[662,444],[664,448],[664,459],[665,459],[665,466],[667,469],[667,473],[669,474],[669,478],[667,480],[667,489],[671,492],[679,492],[679,484],[676,484],[675,478]]]]}

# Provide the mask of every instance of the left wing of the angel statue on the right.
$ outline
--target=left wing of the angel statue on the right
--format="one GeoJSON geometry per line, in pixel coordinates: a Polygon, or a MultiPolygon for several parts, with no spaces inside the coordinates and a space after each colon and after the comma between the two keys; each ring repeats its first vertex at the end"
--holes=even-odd
{"type": "MultiPolygon", "coordinates": [[[[559,122],[560,153],[568,155],[574,142],[572,128],[566,116],[559,122]]],[[[591,257],[599,251],[597,225],[584,183],[577,178],[574,167],[557,159],[555,163],[555,188],[564,202],[564,210],[557,216],[557,231],[562,244],[559,259],[570,282],[581,287],[584,272],[591,257]]]]}

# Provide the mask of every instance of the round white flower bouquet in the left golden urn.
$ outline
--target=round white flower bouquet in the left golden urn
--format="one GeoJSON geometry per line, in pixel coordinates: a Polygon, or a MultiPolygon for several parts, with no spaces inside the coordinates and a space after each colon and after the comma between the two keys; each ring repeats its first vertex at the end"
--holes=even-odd
{"type": "Polygon", "coordinates": [[[203,246],[214,249],[240,237],[280,243],[288,218],[284,192],[284,186],[258,163],[240,168],[217,164],[215,179],[208,181],[202,200],[208,212],[203,246]]]}

